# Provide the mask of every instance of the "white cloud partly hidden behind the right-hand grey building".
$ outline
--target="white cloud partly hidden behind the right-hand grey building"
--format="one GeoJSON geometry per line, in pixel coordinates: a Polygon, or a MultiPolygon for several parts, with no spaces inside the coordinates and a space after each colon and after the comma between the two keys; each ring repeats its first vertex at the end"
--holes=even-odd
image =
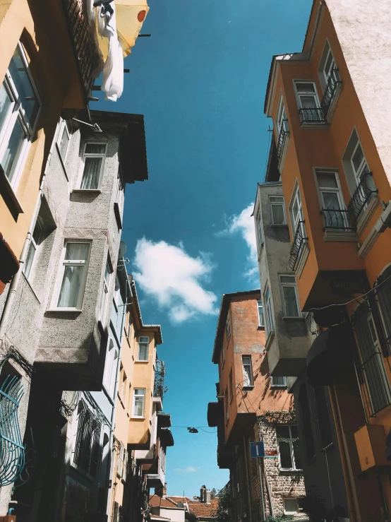
{"type": "Polygon", "coordinates": [[[255,239],[254,218],[251,216],[253,208],[254,203],[250,203],[240,214],[231,215],[230,218],[226,219],[227,227],[220,232],[220,235],[237,234],[239,232],[241,237],[243,237],[249,249],[244,275],[251,283],[259,284],[257,242],[255,239]]]}

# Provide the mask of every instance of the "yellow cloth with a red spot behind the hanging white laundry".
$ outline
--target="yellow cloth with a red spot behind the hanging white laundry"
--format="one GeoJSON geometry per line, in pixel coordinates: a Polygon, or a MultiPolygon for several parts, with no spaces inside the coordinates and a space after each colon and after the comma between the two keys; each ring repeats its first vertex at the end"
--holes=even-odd
{"type": "MultiPolygon", "coordinates": [[[[116,30],[124,52],[124,58],[131,54],[138,33],[143,27],[145,16],[150,8],[147,0],[114,0],[116,6],[116,30]]],[[[98,14],[99,16],[99,14],[98,14]]],[[[104,60],[107,58],[109,41],[98,35],[100,51],[104,60]]]]}

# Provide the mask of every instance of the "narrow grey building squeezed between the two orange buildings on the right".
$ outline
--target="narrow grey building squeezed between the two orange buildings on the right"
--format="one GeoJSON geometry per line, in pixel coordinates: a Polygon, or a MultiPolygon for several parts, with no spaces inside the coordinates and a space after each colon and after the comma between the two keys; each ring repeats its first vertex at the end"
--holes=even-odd
{"type": "MultiPolygon", "coordinates": [[[[347,494],[330,396],[327,386],[311,386],[306,374],[306,355],[317,335],[317,326],[311,314],[303,314],[300,309],[296,290],[300,266],[296,266],[295,272],[291,268],[298,241],[304,242],[299,248],[305,255],[306,223],[301,201],[289,202],[288,216],[285,208],[272,141],[265,182],[258,184],[254,208],[267,360],[272,377],[285,379],[288,391],[294,395],[306,487],[306,500],[302,505],[305,509],[309,505],[312,509],[317,506],[320,518],[326,517],[327,510],[335,509],[335,515],[343,520],[348,516],[347,494]],[[296,223],[295,230],[301,231],[292,243],[288,219],[296,223]]],[[[275,437],[268,425],[265,422],[265,440],[275,437]]],[[[270,442],[275,444],[274,439],[270,442]]],[[[270,468],[272,464],[267,465],[270,468]]],[[[269,473],[275,475],[271,482],[278,480],[272,469],[269,473]]]]}

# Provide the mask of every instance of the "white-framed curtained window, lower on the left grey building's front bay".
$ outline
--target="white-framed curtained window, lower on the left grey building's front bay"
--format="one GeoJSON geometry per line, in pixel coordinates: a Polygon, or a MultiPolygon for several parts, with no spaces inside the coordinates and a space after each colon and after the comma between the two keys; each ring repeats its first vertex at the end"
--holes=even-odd
{"type": "Polygon", "coordinates": [[[65,242],[57,308],[81,308],[89,254],[90,243],[65,242]]]}

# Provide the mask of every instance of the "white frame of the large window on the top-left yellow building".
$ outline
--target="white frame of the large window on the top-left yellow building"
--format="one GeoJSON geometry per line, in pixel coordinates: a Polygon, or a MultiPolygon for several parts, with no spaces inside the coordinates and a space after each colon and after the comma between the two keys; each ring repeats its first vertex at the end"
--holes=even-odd
{"type": "Polygon", "coordinates": [[[20,59],[22,60],[23,65],[25,66],[25,72],[28,76],[28,80],[30,81],[32,91],[35,95],[35,100],[37,101],[38,109],[37,114],[35,115],[35,121],[31,126],[30,121],[28,121],[28,117],[26,117],[25,115],[25,109],[23,108],[20,94],[18,93],[16,85],[11,77],[11,72],[9,70],[9,66],[11,65],[10,61],[6,70],[6,74],[4,76],[4,81],[1,83],[1,85],[4,85],[6,93],[11,99],[11,104],[8,107],[8,111],[6,112],[6,115],[4,117],[4,123],[2,124],[0,129],[0,165],[4,160],[4,155],[6,153],[11,135],[13,133],[13,129],[15,129],[17,122],[19,122],[20,127],[25,135],[23,138],[23,145],[21,146],[20,151],[18,152],[18,158],[16,160],[13,177],[9,179],[7,174],[4,172],[4,177],[6,178],[8,184],[11,186],[11,189],[14,192],[18,187],[23,168],[25,167],[25,162],[28,156],[28,150],[30,149],[32,138],[35,135],[35,131],[37,129],[37,124],[40,119],[40,114],[42,110],[42,102],[40,99],[40,95],[38,93],[37,86],[35,85],[34,78],[32,78],[30,64],[28,63],[28,57],[26,56],[26,52],[22,42],[18,41],[15,50],[16,49],[18,49],[20,59]]]}

